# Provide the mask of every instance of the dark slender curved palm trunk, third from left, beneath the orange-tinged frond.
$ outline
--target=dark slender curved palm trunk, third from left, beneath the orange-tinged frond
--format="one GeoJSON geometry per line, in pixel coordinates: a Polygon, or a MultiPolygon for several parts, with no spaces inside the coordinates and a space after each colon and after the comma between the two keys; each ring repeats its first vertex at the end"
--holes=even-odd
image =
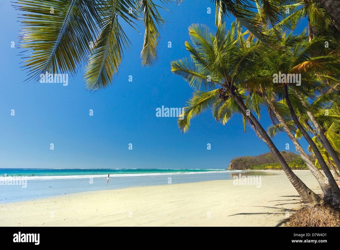
{"type": "Polygon", "coordinates": [[[288,105],[290,114],[293,118],[293,121],[294,121],[296,127],[301,131],[302,135],[305,137],[305,139],[309,143],[311,149],[313,150],[315,156],[317,157],[317,159],[319,161],[319,164],[320,164],[322,170],[324,171],[324,173],[326,175],[326,178],[328,179],[330,188],[332,189],[332,193],[333,193],[334,205],[340,206],[340,189],[338,187],[338,184],[336,183],[332,173],[330,172],[329,168],[327,167],[325,160],[322,158],[322,155],[321,155],[318,147],[315,145],[312,138],[310,138],[309,134],[306,132],[306,130],[302,127],[301,123],[297,119],[295,112],[294,112],[294,109],[293,109],[293,106],[292,106],[292,104],[290,103],[290,100],[289,100],[287,84],[284,85],[284,88],[285,88],[285,98],[286,98],[286,101],[287,101],[287,105],[288,105]]]}

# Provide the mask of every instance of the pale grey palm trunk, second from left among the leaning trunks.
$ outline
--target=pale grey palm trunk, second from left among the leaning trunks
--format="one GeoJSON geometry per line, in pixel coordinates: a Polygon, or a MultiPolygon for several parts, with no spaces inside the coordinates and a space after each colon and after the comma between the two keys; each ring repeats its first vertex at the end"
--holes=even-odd
{"type": "Polygon", "coordinates": [[[324,175],[320,172],[320,170],[312,163],[312,161],[309,159],[305,151],[302,149],[299,141],[295,138],[291,130],[288,128],[285,120],[283,117],[280,115],[280,113],[277,111],[276,107],[273,105],[272,102],[269,101],[268,97],[266,94],[262,95],[262,98],[267,102],[268,106],[270,109],[273,111],[277,119],[282,125],[282,128],[288,135],[289,139],[293,142],[296,151],[301,155],[302,160],[306,163],[307,167],[309,168],[310,172],[313,174],[313,176],[317,179],[321,190],[323,191],[324,194],[324,199],[329,199],[333,198],[332,195],[332,190],[329,186],[329,183],[327,183],[327,179],[324,177],[324,175]]]}

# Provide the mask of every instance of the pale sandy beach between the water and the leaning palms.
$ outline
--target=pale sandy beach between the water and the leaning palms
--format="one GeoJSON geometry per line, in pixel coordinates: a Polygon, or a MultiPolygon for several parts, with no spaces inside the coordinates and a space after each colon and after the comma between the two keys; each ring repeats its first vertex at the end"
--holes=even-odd
{"type": "MultiPolygon", "coordinates": [[[[302,206],[283,171],[261,177],[261,187],[233,180],[66,194],[1,204],[0,226],[276,226],[302,206]]],[[[309,171],[294,171],[320,194],[309,171]]],[[[242,173],[247,175],[247,173],[242,173]]]]}

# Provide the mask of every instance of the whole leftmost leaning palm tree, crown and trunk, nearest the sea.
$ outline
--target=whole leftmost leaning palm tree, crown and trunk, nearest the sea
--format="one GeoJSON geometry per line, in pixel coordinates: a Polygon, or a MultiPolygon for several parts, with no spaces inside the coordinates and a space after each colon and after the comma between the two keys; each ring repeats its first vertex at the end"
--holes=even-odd
{"type": "Polygon", "coordinates": [[[227,32],[223,24],[214,35],[201,25],[189,27],[192,44],[186,42],[191,59],[171,62],[171,71],[183,77],[194,88],[193,98],[188,101],[179,119],[179,128],[186,132],[190,119],[207,109],[212,109],[215,119],[225,123],[233,113],[241,113],[244,122],[249,122],[259,137],[265,141],[276,160],[285,171],[305,204],[313,206],[324,201],[309,189],[289,168],[283,156],[252,114],[252,107],[244,103],[243,90],[236,85],[243,83],[258,73],[259,58],[269,52],[263,44],[253,44],[251,48],[241,47],[238,43],[235,23],[227,32]],[[220,88],[218,88],[220,87],[220,88]]]}

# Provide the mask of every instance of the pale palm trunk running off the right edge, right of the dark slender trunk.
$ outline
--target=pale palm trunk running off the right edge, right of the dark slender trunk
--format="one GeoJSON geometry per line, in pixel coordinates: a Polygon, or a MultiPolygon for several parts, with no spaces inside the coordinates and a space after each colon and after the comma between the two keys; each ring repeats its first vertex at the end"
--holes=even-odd
{"type": "Polygon", "coordinates": [[[312,114],[312,112],[310,112],[308,110],[307,104],[303,101],[302,96],[298,92],[296,92],[296,91],[295,91],[295,93],[297,93],[297,95],[301,98],[302,105],[307,109],[307,114],[309,116],[309,119],[312,121],[312,123],[314,124],[314,127],[317,129],[317,131],[318,131],[318,133],[320,135],[321,140],[319,140],[319,141],[320,141],[321,145],[327,150],[327,152],[329,153],[330,157],[332,157],[333,161],[335,162],[335,165],[337,166],[337,168],[340,171],[340,159],[339,159],[339,156],[338,156],[337,152],[334,150],[332,145],[330,145],[329,140],[325,136],[325,132],[321,129],[319,123],[315,119],[315,117],[312,114]]]}

